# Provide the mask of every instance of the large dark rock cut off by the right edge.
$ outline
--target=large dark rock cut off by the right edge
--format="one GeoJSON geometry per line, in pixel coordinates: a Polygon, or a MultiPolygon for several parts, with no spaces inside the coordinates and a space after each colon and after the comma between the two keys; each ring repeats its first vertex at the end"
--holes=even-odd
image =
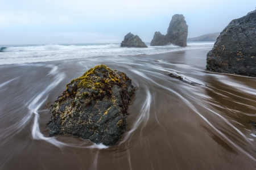
{"type": "Polygon", "coordinates": [[[207,69],[256,76],[256,10],[234,19],[207,54],[207,69]]]}

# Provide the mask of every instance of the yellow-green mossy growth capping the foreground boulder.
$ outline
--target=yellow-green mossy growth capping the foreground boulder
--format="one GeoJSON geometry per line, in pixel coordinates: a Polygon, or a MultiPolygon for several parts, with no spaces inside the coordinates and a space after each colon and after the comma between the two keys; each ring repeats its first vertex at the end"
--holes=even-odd
{"type": "Polygon", "coordinates": [[[79,97],[82,99],[86,96],[92,96],[94,99],[103,99],[104,97],[110,97],[112,95],[112,88],[114,85],[119,87],[126,88],[126,81],[129,78],[126,77],[125,73],[116,73],[112,69],[109,69],[105,65],[95,66],[88,71],[86,71],[79,78],[71,80],[70,83],[67,84],[67,91],[63,95],[63,97],[79,97]],[[75,87],[75,88],[74,88],[75,87]],[[68,88],[73,88],[71,91],[68,88]],[[86,90],[88,92],[83,93],[84,90],[77,89],[90,88],[91,90],[86,90]],[[80,94],[82,92],[82,94],[80,94]]]}

